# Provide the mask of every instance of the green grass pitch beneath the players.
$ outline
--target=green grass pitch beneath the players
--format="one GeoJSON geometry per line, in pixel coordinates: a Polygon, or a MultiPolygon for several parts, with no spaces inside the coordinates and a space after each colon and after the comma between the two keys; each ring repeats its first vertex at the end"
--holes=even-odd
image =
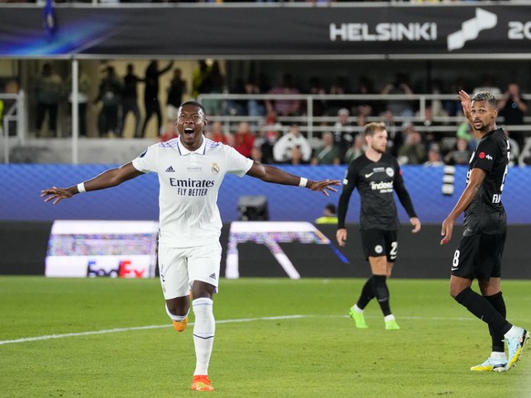
{"type": "MultiPolygon", "coordinates": [[[[484,322],[450,298],[448,281],[390,281],[400,331],[383,329],[376,302],[366,311],[370,328],[354,328],[346,313],[363,282],[221,281],[214,299],[214,394],[530,396],[531,352],[510,372],[469,371],[489,354],[490,337],[484,322]],[[301,317],[266,318],[293,315],[301,317]]],[[[531,281],[504,281],[503,288],[509,320],[531,327],[531,281]]],[[[0,305],[0,342],[59,337],[0,344],[2,397],[198,394],[190,391],[193,325],[173,331],[156,279],[3,277],[0,305]],[[61,336],[117,328],[126,330],[61,336]]]]}

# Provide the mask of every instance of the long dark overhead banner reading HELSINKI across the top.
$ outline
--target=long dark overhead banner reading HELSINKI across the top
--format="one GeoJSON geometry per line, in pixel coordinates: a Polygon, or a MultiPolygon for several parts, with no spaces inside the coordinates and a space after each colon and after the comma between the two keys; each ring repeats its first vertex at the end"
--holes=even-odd
{"type": "Polygon", "coordinates": [[[43,28],[41,8],[14,6],[0,14],[0,56],[381,59],[531,54],[529,5],[478,5],[57,5],[53,31],[43,28]]]}

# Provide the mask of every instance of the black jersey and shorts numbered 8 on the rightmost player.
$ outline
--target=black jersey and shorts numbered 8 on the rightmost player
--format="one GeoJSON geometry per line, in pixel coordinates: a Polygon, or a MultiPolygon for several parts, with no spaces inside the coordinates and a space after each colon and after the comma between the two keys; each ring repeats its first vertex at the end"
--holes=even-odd
{"type": "Polygon", "coordinates": [[[485,134],[474,150],[466,183],[473,168],[481,168],[486,176],[474,199],[464,209],[463,237],[453,256],[452,274],[455,276],[480,280],[501,276],[507,230],[502,191],[509,156],[509,141],[502,128],[485,134]]]}

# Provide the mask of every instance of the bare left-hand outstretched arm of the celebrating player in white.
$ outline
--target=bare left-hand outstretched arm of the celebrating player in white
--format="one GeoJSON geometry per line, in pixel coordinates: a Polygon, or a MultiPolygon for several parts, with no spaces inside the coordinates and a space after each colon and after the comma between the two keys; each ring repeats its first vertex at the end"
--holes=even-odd
{"type": "Polygon", "coordinates": [[[143,173],[134,168],[132,163],[127,163],[120,166],[120,168],[110,168],[93,179],[89,179],[88,181],[81,182],[68,188],[52,187],[43,189],[40,191],[40,196],[41,198],[45,198],[45,202],[53,200],[52,203],[55,205],[60,200],[72,198],[78,193],[116,187],[122,182],[141,176],[141,174],[143,173]]]}

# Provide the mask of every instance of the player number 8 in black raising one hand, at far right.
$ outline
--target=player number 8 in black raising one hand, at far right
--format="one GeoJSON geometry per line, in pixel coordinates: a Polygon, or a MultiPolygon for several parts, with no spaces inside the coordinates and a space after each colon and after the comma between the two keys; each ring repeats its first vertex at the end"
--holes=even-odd
{"type": "Polygon", "coordinates": [[[463,236],[453,255],[450,294],[488,324],[492,338],[491,355],[470,370],[505,372],[520,359],[529,338],[525,329],[505,319],[505,301],[500,287],[507,224],[501,199],[510,146],[504,130],[495,124],[498,110],[493,94],[481,92],[471,99],[461,90],[458,97],[478,143],[470,160],[466,188],[442,222],[441,244],[452,239],[455,219],[464,211],[463,236]],[[481,294],[471,289],[474,279],[478,281],[481,294]]]}

